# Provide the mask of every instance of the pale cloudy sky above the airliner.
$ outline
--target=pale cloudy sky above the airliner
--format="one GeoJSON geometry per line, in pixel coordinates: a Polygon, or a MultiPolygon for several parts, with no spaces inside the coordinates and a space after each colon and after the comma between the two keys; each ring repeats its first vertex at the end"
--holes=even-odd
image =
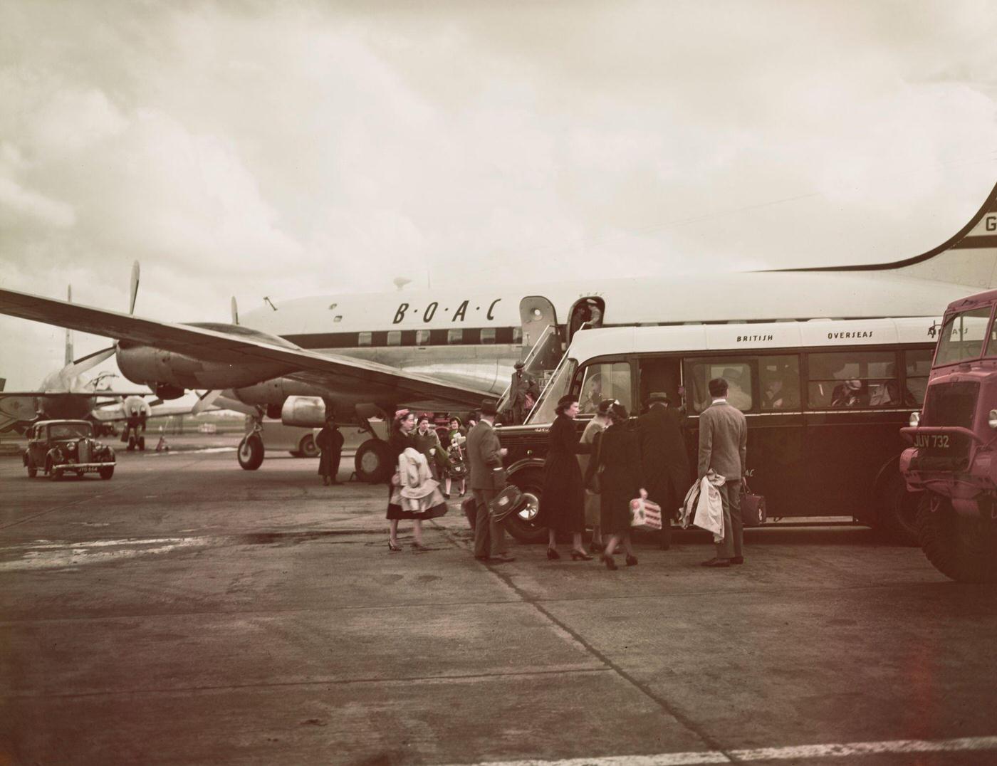
{"type": "MultiPolygon", "coordinates": [[[[264,295],[893,260],[997,181],[992,2],[0,3],[0,283],[264,295]]],[[[0,319],[32,387],[62,333],[0,319]]],[[[78,356],[106,345],[77,338],[78,356]]]]}

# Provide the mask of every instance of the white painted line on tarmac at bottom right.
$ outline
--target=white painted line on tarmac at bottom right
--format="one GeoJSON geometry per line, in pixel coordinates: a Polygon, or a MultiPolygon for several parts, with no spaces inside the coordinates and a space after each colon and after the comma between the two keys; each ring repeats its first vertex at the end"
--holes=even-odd
{"type": "Polygon", "coordinates": [[[889,753],[941,753],[965,750],[997,750],[997,736],[959,739],[894,739],[884,742],[846,742],[793,747],[763,747],[754,750],[719,750],[658,755],[610,755],[597,758],[565,758],[543,761],[488,761],[479,766],[697,766],[705,763],[752,763],[801,758],[854,758],[889,753]]]}

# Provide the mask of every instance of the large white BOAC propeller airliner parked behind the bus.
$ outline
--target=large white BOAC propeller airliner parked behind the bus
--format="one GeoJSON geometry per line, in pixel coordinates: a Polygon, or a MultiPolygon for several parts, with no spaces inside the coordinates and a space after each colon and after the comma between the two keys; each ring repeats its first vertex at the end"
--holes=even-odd
{"type": "MultiPolygon", "coordinates": [[[[122,374],[162,398],[204,388],[205,403],[224,394],[289,425],[315,427],[331,411],[370,426],[356,470],[377,482],[392,466],[375,418],[400,405],[476,408],[527,354],[539,372],[552,369],[583,326],[938,316],[967,288],[995,283],[997,185],[948,240],[886,263],[267,299],[241,321],[233,298],[230,324],[157,322],[0,289],[0,313],[115,339],[105,352],[122,374]]],[[[240,466],[258,468],[263,452],[250,433],[240,466]]]]}

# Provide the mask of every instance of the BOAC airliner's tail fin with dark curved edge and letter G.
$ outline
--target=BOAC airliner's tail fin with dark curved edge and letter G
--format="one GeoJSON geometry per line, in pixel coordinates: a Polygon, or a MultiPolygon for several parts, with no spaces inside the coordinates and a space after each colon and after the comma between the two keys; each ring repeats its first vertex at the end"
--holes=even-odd
{"type": "Polygon", "coordinates": [[[780,271],[891,271],[914,279],[987,290],[997,287],[997,185],[954,236],[926,253],[891,263],[780,271]]]}

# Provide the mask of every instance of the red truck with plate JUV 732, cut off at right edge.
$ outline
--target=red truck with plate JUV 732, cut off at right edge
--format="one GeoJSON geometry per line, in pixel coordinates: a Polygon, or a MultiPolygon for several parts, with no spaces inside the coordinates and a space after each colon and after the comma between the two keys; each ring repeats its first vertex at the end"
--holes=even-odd
{"type": "Polygon", "coordinates": [[[917,532],[928,560],[964,583],[997,582],[997,290],[949,305],[924,404],[901,433],[917,532]]]}

